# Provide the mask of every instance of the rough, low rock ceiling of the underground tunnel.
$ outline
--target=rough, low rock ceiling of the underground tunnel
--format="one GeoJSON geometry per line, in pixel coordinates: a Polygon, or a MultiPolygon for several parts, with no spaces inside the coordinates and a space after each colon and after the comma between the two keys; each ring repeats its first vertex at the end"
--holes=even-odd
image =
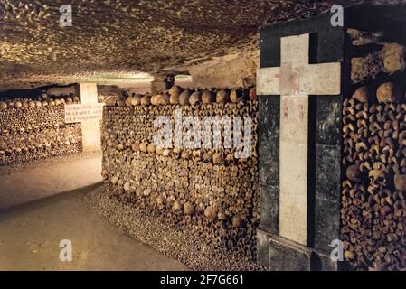
{"type": "MultiPolygon", "coordinates": [[[[341,4],[394,1],[341,1],[341,4]]],[[[399,1],[395,1],[399,2],[399,1]]],[[[340,1],[0,0],[0,85],[134,78],[258,47],[266,23],[340,1]],[[70,3],[71,27],[61,27],[70,3]]]]}

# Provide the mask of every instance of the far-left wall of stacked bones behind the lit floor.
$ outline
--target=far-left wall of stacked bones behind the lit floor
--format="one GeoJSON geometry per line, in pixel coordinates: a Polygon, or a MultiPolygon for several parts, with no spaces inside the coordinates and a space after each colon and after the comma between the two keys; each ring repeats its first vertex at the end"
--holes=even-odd
{"type": "Polygon", "coordinates": [[[65,124],[73,96],[0,101],[0,166],[81,152],[80,124],[65,124]]]}

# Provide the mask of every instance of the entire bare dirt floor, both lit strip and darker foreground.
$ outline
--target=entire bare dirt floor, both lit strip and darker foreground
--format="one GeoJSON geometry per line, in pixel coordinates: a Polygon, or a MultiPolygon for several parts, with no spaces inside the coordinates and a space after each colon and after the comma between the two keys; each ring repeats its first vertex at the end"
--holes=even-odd
{"type": "Polygon", "coordinates": [[[85,204],[100,185],[99,162],[100,156],[80,155],[0,174],[0,270],[188,269],[85,204]],[[71,240],[72,262],[60,260],[62,239],[71,240]]]}

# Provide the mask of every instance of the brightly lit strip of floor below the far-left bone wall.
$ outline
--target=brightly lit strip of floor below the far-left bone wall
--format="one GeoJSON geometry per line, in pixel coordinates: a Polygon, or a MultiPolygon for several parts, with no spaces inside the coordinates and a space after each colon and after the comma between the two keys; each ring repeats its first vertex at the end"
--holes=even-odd
{"type": "Polygon", "coordinates": [[[0,211],[101,182],[101,154],[76,154],[0,169],[0,211]]]}

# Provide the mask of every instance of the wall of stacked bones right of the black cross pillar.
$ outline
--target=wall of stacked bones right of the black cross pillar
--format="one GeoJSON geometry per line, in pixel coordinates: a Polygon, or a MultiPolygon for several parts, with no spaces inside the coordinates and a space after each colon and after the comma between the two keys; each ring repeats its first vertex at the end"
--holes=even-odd
{"type": "Polygon", "coordinates": [[[406,50],[372,33],[350,35],[362,53],[352,59],[354,94],[343,107],[345,259],[356,269],[405,269],[406,50]]]}

